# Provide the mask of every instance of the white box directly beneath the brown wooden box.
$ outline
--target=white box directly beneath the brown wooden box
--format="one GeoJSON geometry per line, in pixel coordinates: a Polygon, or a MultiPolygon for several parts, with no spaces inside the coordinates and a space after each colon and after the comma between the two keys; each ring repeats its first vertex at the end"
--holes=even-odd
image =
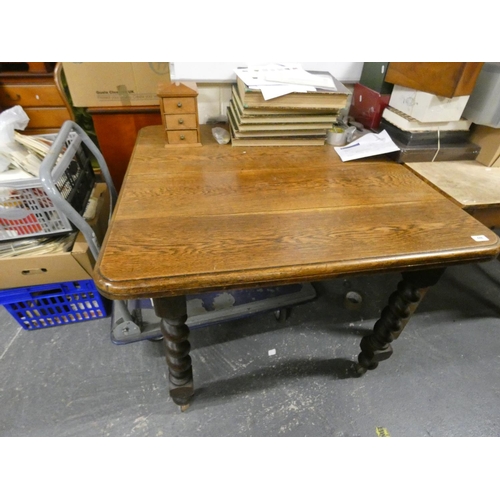
{"type": "Polygon", "coordinates": [[[389,106],[421,122],[460,120],[469,96],[441,97],[428,92],[394,85],[389,106]]]}

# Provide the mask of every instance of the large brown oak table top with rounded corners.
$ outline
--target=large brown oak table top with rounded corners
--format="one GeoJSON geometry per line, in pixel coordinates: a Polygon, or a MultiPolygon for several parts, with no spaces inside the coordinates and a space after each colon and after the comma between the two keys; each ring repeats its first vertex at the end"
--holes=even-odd
{"type": "Polygon", "coordinates": [[[417,270],[500,252],[495,233],[403,165],[342,163],[328,145],[219,145],[201,128],[198,148],[164,148],[161,126],[140,131],[95,268],[104,295],[417,270]]]}

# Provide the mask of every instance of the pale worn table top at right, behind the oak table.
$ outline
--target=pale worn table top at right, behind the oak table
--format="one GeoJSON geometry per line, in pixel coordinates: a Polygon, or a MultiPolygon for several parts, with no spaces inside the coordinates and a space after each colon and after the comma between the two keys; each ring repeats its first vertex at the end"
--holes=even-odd
{"type": "Polygon", "coordinates": [[[500,168],[478,161],[412,162],[413,172],[463,209],[500,207],[500,168]]]}

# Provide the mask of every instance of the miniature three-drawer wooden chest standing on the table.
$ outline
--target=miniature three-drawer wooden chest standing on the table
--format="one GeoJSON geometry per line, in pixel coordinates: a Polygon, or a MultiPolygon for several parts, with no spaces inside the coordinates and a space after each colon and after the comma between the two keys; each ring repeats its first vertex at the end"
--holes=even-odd
{"type": "Polygon", "coordinates": [[[158,97],[165,147],[201,146],[196,84],[161,83],[158,97]]]}

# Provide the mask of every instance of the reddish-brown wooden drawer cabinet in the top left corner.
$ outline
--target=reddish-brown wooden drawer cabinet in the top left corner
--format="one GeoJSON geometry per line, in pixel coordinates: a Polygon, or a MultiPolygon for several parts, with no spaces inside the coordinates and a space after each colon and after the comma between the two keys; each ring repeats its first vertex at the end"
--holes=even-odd
{"type": "Polygon", "coordinates": [[[57,133],[73,109],[61,82],[61,63],[0,63],[0,109],[21,106],[26,134],[57,133]]]}

